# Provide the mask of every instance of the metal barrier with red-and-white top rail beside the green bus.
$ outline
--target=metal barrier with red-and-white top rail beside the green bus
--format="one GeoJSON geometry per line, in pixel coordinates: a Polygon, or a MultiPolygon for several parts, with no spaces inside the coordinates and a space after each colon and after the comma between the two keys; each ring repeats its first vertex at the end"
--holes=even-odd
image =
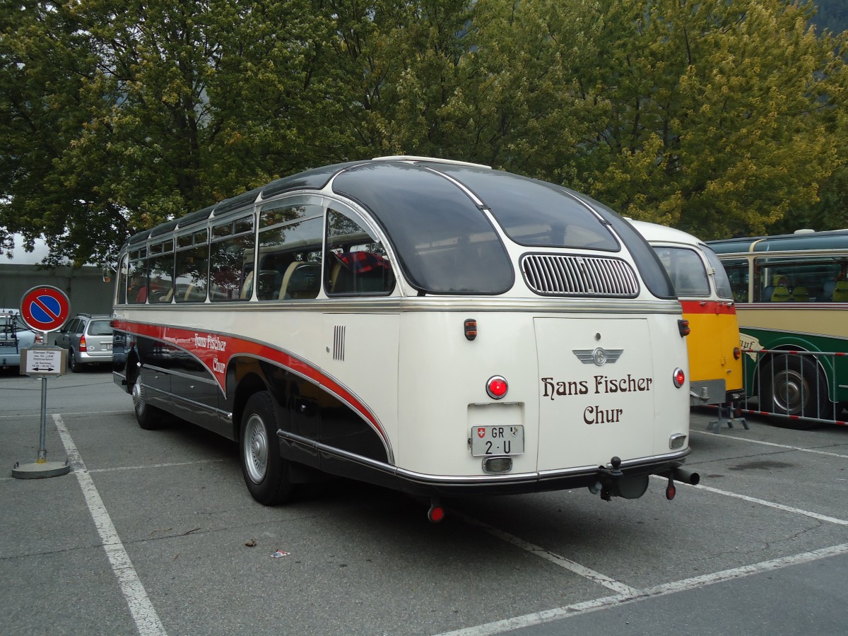
{"type": "Polygon", "coordinates": [[[743,349],[743,356],[745,394],[735,404],[737,413],[784,418],[797,428],[817,422],[848,426],[840,419],[843,404],[828,397],[839,387],[835,359],[848,354],[743,349]],[[750,365],[756,366],[751,370],[750,365]],[[757,408],[750,408],[755,401],[757,408]]]}

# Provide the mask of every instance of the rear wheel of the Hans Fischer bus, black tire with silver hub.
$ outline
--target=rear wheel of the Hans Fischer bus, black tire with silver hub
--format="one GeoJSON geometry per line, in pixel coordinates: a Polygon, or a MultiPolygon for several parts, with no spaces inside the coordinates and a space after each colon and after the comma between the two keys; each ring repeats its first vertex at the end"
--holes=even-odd
{"type": "Polygon", "coordinates": [[[282,504],[292,495],[286,460],[280,455],[271,393],[260,391],[248,399],[239,432],[242,474],[251,496],[263,505],[282,504]]]}

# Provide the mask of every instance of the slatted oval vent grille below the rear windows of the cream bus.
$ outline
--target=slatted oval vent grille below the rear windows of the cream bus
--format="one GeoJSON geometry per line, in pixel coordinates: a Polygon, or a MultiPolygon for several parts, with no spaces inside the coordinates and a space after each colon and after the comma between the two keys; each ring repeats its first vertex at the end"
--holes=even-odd
{"type": "Polygon", "coordinates": [[[634,298],[639,295],[639,279],[622,259],[525,254],[521,264],[527,287],[545,296],[634,298]]]}

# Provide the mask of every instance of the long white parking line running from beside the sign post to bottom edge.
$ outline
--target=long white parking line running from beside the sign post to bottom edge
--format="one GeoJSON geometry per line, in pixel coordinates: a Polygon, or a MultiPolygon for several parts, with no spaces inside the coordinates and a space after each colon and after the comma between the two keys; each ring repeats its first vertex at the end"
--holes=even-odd
{"type": "Polygon", "coordinates": [[[59,437],[62,439],[62,444],[64,444],[64,450],[68,455],[68,460],[70,460],[70,464],[74,468],[73,472],[76,479],[80,483],[80,488],[82,488],[82,494],[86,498],[88,511],[91,513],[94,525],[98,529],[100,540],[103,542],[103,550],[106,550],[106,555],[109,557],[109,564],[112,566],[112,572],[114,572],[115,577],[118,579],[120,591],[124,594],[126,604],[130,606],[132,620],[136,623],[138,633],[142,634],[142,636],[166,636],[165,627],[159,621],[159,615],[153,608],[153,604],[148,598],[148,593],[138,578],[135,568],[132,566],[130,555],[126,553],[124,544],[121,543],[120,537],[114,529],[109,512],[106,511],[106,506],[103,505],[103,499],[100,498],[98,489],[94,486],[92,477],[86,470],[86,465],[76,449],[74,440],[70,437],[68,429],[64,426],[62,416],[53,414],[53,421],[56,424],[56,430],[59,431],[59,437]]]}

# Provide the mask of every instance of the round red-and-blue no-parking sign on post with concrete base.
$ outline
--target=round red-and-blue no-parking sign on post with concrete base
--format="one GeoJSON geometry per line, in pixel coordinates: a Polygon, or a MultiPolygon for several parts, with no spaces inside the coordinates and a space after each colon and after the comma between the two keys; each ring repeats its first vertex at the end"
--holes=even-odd
{"type": "MultiPolygon", "coordinates": [[[[64,325],[70,315],[70,300],[58,287],[41,285],[32,287],[20,301],[20,316],[26,326],[34,332],[44,334],[54,332],[64,325]]],[[[32,464],[16,463],[12,477],[19,479],[41,479],[58,477],[70,472],[68,461],[47,461],[47,377],[59,377],[64,374],[67,351],[60,347],[47,345],[21,349],[20,373],[25,376],[42,378],[42,421],[38,443],[38,455],[32,464]]]]}

